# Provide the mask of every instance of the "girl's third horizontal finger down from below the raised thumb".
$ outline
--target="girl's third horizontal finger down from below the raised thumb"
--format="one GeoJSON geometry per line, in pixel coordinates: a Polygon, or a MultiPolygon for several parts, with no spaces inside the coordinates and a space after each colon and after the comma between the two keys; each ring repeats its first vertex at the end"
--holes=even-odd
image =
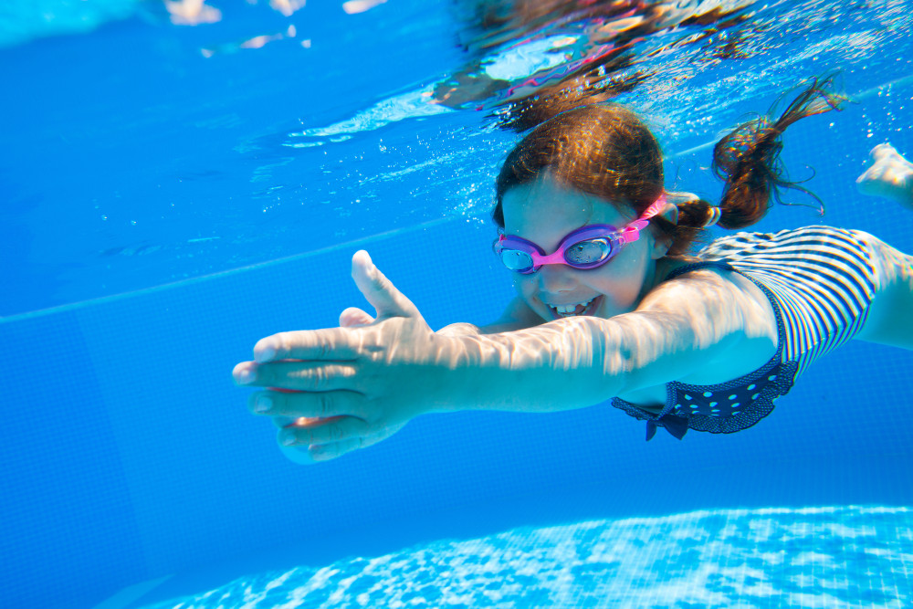
{"type": "Polygon", "coordinates": [[[247,407],[255,415],[278,417],[319,417],[353,415],[367,418],[366,400],[362,394],[350,391],[283,394],[266,391],[251,394],[247,407]]]}

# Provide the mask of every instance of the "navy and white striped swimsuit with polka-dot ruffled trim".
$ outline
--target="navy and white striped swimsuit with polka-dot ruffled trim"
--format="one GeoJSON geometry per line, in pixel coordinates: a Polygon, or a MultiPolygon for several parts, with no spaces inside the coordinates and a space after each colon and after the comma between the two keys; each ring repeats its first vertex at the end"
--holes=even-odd
{"type": "Polygon", "coordinates": [[[646,421],[646,439],[657,427],[681,439],[688,429],[729,434],[760,421],[773,401],[817,358],[850,340],[866,322],[876,293],[873,254],[855,231],[806,226],[779,233],[738,233],[715,240],[700,261],[666,279],[698,268],[723,268],[749,278],[771,301],[777,318],[777,352],[753,373],[729,383],[666,383],[659,414],[613,398],[612,405],[646,421]]]}

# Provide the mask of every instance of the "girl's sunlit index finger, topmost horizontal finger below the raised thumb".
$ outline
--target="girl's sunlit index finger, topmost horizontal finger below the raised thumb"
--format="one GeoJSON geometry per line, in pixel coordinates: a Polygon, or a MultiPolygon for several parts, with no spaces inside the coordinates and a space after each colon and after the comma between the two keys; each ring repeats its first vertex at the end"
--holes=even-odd
{"type": "Polygon", "coordinates": [[[279,332],[257,341],[254,361],[354,360],[362,338],[348,328],[279,332]]]}

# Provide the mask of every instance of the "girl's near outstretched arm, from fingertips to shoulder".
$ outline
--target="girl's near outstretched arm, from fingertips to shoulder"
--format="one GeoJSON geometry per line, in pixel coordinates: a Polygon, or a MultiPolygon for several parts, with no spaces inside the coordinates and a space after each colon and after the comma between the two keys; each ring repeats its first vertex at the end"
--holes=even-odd
{"type": "Polygon", "coordinates": [[[250,404],[259,414],[300,417],[279,436],[303,454],[299,461],[370,446],[424,413],[579,408],[681,378],[759,328],[753,339],[765,340],[769,324],[746,323],[743,309],[750,307],[744,305],[753,298],[733,294],[737,287],[712,272],[704,275],[668,282],[647,309],[611,320],[577,317],[448,336],[431,331],[415,305],[359,252],[352,277],[377,319],[265,338],[257,342],[255,362],[236,366],[235,378],[298,392],[261,392],[250,404]],[[695,302],[693,310],[681,309],[683,298],[695,302]]]}

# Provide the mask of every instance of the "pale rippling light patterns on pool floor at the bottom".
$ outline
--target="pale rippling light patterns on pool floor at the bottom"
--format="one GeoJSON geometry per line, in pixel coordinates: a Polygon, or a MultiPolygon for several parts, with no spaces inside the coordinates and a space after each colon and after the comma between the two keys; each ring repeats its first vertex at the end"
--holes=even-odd
{"type": "Polygon", "coordinates": [[[913,509],[700,510],[433,541],[147,609],[908,607],[913,509]]]}

